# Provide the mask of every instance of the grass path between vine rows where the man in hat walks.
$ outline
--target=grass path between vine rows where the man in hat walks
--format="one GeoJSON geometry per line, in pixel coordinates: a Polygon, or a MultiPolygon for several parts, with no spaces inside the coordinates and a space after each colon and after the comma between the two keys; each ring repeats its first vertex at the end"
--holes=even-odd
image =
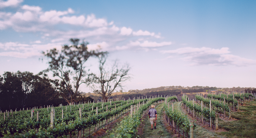
{"type": "Polygon", "coordinates": [[[139,127],[142,127],[142,132],[139,132],[140,138],[170,138],[170,133],[165,130],[163,124],[164,117],[164,104],[157,105],[155,107],[157,112],[156,129],[151,130],[150,120],[146,113],[141,120],[139,127]]]}

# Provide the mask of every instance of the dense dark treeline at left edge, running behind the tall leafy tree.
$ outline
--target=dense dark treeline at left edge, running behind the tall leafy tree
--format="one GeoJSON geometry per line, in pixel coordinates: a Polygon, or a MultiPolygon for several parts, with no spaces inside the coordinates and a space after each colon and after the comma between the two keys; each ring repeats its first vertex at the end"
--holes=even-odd
{"type": "MultiPolygon", "coordinates": [[[[93,101],[90,97],[79,96],[77,102],[93,101]]],[[[58,95],[46,77],[30,72],[6,72],[0,76],[0,110],[19,110],[47,105],[67,105],[58,95]]]]}

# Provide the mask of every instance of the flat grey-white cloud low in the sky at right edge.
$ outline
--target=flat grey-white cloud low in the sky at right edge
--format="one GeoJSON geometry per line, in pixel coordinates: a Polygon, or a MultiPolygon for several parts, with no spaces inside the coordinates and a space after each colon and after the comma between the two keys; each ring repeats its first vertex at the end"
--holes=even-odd
{"type": "Polygon", "coordinates": [[[190,62],[190,65],[236,65],[247,66],[256,65],[256,60],[245,59],[234,56],[230,53],[228,47],[213,49],[208,47],[192,48],[184,47],[176,50],[162,51],[163,53],[179,54],[184,56],[184,61],[190,62]]]}

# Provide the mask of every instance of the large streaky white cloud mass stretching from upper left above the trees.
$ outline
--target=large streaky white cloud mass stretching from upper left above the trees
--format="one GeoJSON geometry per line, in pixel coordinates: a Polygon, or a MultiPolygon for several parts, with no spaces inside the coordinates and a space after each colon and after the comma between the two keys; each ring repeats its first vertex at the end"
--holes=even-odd
{"type": "MultiPolygon", "coordinates": [[[[106,51],[128,48],[149,50],[148,47],[161,47],[171,44],[171,42],[155,42],[152,40],[154,39],[153,37],[159,38],[160,33],[156,35],[141,29],[133,32],[132,28],[118,27],[114,24],[114,21],[108,22],[104,18],[96,18],[94,14],[77,14],[71,8],[68,8],[66,11],[54,9],[43,11],[39,6],[21,5],[14,12],[0,11],[0,29],[9,28],[16,32],[33,32],[34,34],[41,35],[37,36],[35,40],[29,38],[30,41],[27,42],[29,44],[38,44],[37,46],[29,46],[32,47],[31,49],[40,50],[44,49],[39,48],[41,46],[49,48],[49,45],[55,46],[56,43],[60,45],[70,44],[68,41],[70,38],[86,39],[86,41],[92,42],[92,44],[88,45],[89,50],[96,50],[98,45],[106,51]],[[131,42],[131,40],[137,41],[131,42]],[[44,42],[48,42],[47,46],[44,42]]],[[[23,38],[26,39],[26,36],[23,36],[23,38]]],[[[9,50],[11,48],[17,52],[28,51],[24,47],[10,47],[9,50]]]]}

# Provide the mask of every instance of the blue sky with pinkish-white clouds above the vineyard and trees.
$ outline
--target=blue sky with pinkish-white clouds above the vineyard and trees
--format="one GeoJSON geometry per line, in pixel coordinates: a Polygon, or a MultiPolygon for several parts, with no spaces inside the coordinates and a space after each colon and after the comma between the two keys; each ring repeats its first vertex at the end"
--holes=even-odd
{"type": "Polygon", "coordinates": [[[69,38],[128,63],[126,91],[256,87],[256,1],[0,0],[1,75],[37,74],[47,68],[40,52],[69,38]]]}

